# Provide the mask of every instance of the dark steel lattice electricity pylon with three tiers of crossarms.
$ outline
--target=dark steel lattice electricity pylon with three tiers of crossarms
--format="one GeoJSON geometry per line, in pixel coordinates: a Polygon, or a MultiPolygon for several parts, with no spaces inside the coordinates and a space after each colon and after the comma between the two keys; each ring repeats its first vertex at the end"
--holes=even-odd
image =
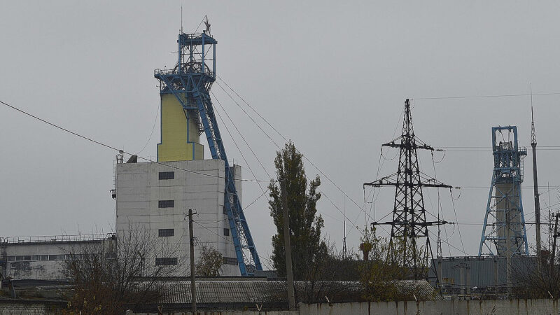
{"type": "Polygon", "coordinates": [[[405,101],[405,117],[400,137],[382,146],[398,148],[399,162],[396,173],[385,176],[365,186],[395,187],[393,221],[374,222],[372,225],[391,225],[388,260],[411,270],[414,279],[426,279],[428,258],[433,256],[428,227],[446,224],[447,221],[426,221],[426,208],[422,188],[451,188],[437,179],[420,172],[417,150],[435,151],[414,134],[409,99],[405,101]]]}

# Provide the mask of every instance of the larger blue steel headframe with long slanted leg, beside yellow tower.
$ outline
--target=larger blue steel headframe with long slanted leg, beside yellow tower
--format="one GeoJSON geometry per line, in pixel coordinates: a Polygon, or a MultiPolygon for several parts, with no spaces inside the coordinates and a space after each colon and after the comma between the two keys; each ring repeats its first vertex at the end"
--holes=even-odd
{"type": "Polygon", "coordinates": [[[212,158],[223,160],[225,163],[224,207],[228,214],[239,271],[242,276],[251,276],[255,269],[262,270],[262,265],[237,196],[235,179],[225,154],[209,94],[212,83],[216,80],[216,43],[218,42],[202,32],[202,34],[179,34],[177,43],[179,43],[179,58],[174,69],[156,69],[154,77],[160,80],[160,94],[173,94],[183,106],[183,110],[197,112],[212,158]],[[211,49],[211,54],[208,53],[207,46],[211,49]],[[211,58],[208,58],[208,55],[211,55],[211,58]],[[210,66],[209,60],[211,60],[210,66]],[[251,257],[248,257],[246,251],[251,257]]]}

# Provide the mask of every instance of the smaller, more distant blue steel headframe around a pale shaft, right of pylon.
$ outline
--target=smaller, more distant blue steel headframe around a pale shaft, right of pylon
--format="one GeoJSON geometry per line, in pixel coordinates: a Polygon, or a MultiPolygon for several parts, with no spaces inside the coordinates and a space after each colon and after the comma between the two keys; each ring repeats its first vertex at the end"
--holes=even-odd
{"type": "Polygon", "coordinates": [[[504,219],[505,214],[499,214],[500,211],[507,211],[507,215],[513,214],[514,218],[519,216],[515,220],[517,222],[510,223],[510,229],[516,228],[516,231],[513,232],[514,235],[510,237],[512,239],[512,246],[514,246],[512,255],[528,255],[525,216],[523,214],[523,201],[521,198],[523,160],[525,155],[527,155],[527,149],[519,148],[517,126],[492,127],[492,151],[494,167],[478,255],[496,255],[500,250],[505,250],[507,237],[499,235],[498,230],[506,230],[507,222],[504,219]],[[499,141],[496,137],[498,133],[502,137],[504,133],[507,133],[508,136],[512,134],[513,141],[509,138],[507,141],[505,138],[503,138],[503,141],[499,141]],[[514,202],[510,200],[514,200],[514,202]],[[496,206],[500,202],[504,202],[506,208],[512,205],[513,209],[497,209],[496,206]],[[493,217],[494,223],[490,224],[491,229],[488,231],[489,216],[493,217]],[[492,244],[496,246],[496,253],[491,248],[492,244]],[[488,250],[487,253],[482,253],[483,246],[488,250]]]}

